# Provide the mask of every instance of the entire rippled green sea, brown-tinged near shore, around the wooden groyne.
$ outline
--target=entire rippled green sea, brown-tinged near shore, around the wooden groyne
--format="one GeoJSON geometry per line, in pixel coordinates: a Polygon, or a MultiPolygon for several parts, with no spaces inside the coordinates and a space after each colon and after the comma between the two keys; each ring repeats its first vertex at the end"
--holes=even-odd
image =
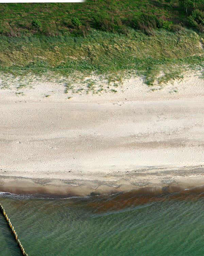
{"type": "MultiPolygon", "coordinates": [[[[201,194],[143,202],[121,195],[0,202],[29,256],[204,255],[201,194]]],[[[0,255],[21,255],[2,215],[0,255]]]]}

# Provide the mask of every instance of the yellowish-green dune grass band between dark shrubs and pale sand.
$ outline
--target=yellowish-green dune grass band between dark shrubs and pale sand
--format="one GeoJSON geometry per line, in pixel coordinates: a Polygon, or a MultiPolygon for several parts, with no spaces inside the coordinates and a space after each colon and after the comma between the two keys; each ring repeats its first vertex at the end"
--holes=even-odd
{"type": "MultiPolygon", "coordinates": [[[[117,86],[121,72],[135,70],[145,76],[148,85],[157,77],[162,84],[180,78],[188,68],[203,67],[202,42],[201,35],[188,29],[160,29],[154,35],[134,29],[128,35],[93,31],[85,38],[0,36],[0,72],[68,77],[76,72],[87,75],[94,71],[107,74],[108,83],[115,82],[117,86]]],[[[92,83],[90,87],[94,86],[92,83]]]]}

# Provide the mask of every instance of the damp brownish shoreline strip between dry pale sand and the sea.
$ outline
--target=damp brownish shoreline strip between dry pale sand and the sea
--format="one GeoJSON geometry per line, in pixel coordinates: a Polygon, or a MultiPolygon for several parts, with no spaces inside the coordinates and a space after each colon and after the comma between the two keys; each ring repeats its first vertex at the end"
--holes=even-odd
{"type": "Polygon", "coordinates": [[[115,194],[130,190],[159,188],[177,188],[176,191],[204,187],[204,167],[158,168],[129,173],[110,174],[108,181],[101,174],[99,180],[80,179],[30,179],[0,175],[0,191],[16,195],[40,194],[64,197],[86,197],[91,195],[115,194]]]}

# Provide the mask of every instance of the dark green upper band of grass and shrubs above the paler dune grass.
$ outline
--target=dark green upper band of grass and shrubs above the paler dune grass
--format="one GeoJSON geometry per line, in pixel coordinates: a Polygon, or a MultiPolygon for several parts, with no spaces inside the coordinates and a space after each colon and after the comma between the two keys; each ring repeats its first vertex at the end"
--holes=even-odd
{"type": "Polygon", "coordinates": [[[1,3],[0,33],[85,35],[91,29],[127,34],[181,26],[204,31],[204,0],[86,0],[84,3],[1,3]]]}

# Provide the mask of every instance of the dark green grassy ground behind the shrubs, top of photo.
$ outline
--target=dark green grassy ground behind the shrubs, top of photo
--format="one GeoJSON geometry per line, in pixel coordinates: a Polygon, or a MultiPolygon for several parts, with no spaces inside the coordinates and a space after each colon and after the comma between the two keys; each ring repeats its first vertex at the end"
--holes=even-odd
{"type": "Polygon", "coordinates": [[[178,0],[86,0],[84,3],[1,3],[0,6],[0,34],[8,36],[71,34],[75,37],[92,28],[125,32],[130,21],[141,14],[187,24],[187,15],[178,0]],[[82,26],[72,22],[76,18],[82,26]]]}

